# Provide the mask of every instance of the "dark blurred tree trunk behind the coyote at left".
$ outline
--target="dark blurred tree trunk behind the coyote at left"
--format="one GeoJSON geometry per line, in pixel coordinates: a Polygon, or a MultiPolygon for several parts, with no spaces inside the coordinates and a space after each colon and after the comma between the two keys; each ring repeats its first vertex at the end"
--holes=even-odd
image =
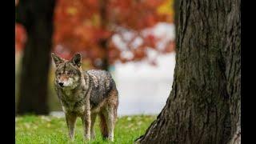
{"type": "Polygon", "coordinates": [[[22,0],[16,22],[26,28],[17,114],[48,114],[47,88],[52,46],[54,0],[22,0]]]}

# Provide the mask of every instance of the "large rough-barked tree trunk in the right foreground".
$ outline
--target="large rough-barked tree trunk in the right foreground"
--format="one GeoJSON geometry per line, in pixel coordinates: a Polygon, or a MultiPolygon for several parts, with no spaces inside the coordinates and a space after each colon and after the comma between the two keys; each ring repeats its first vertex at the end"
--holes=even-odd
{"type": "Polygon", "coordinates": [[[178,1],[173,88],[138,143],[240,143],[240,0],[178,1]]]}

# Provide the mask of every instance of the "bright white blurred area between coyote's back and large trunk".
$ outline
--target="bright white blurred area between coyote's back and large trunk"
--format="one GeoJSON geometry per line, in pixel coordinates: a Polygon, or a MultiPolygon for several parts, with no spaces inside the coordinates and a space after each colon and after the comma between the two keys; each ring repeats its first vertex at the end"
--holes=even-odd
{"type": "Polygon", "coordinates": [[[157,66],[143,61],[117,64],[118,115],[158,114],[170,94],[174,66],[174,53],[158,56],[157,66]]]}

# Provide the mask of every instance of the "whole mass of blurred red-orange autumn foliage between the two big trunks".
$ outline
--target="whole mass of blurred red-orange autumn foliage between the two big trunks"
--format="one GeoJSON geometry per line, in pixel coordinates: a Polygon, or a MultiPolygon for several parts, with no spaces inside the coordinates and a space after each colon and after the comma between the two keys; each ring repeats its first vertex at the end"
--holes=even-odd
{"type": "MultiPolygon", "coordinates": [[[[119,1],[119,0],[58,0],[54,15],[54,50],[64,58],[80,52],[83,58],[96,69],[107,70],[110,64],[139,61],[146,58],[146,50],[157,50],[153,34],[142,34],[142,30],[157,22],[172,22],[172,10],[166,9],[173,0],[119,1]],[[124,38],[124,31],[133,32],[132,38],[124,38]],[[123,58],[111,38],[118,34],[126,42],[126,51],[132,58],[123,58]],[[140,46],[132,43],[142,39],[140,46]]],[[[173,42],[166,44],[159,53],[174,50],[173,42]]],[[[124,51],[124,50],[123,50],[124,51]]]]}

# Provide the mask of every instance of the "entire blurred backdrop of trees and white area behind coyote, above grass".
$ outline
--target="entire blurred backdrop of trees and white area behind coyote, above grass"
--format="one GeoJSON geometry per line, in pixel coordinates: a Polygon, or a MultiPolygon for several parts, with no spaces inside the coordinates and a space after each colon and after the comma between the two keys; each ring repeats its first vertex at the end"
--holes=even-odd
{"type": "Polygon", "coordinates": [[[50,53],[109,70],[118,115],[158,114],[175,65],[174,0],[16,0],[16,114],[62,114],[50,53]]]}

